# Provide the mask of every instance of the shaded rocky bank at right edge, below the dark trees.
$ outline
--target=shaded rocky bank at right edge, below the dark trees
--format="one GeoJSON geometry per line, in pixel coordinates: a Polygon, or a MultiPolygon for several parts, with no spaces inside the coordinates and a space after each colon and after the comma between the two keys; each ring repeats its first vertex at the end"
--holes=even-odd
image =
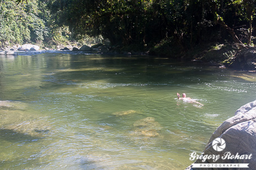
{"type": "Polygon", "coordinates": [[[207,48],[189,50],[186,56],[193,62],[234,70],[256,71],[255,47],[241,50],[236,44],[213,44],[207,48]]]}

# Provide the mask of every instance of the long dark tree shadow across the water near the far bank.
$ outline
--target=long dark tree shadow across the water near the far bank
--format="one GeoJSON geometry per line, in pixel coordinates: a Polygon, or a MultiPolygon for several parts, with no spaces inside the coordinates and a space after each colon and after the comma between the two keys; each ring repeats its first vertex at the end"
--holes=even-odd
{"type": "Polygon", "coordinates": [[[209,76],[213,81],[217,80],[211,73],[216,72],[214,69],[205,70],[202,69],[204,66],[198,64],[181,64],[171,59],[149,56],[64,55],[48,58],[47,67],[53,69],[53,74],[45,76],[45,83],[40,88],[61,88],[66,84],[101,80],[108,83],[142,84],[197,84],[198,79],[209,76]]]}

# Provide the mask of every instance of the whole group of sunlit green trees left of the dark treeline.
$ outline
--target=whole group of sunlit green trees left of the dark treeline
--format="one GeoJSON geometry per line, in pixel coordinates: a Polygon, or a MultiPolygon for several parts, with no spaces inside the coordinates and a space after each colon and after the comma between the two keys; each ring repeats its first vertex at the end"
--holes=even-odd
{"type": "Polygon", "coordinates": [[[0,47],[23,43],[55,47],[75,40],[67,26],[55,24],[45,1],[0,3],[0,47]]]}

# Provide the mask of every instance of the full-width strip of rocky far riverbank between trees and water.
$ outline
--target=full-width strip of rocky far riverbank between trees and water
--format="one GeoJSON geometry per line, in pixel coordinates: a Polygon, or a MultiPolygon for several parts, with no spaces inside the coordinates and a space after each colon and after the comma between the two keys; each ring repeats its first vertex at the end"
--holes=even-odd
{"type": "MultiPolygon", "coordinates": [[[[134,50],[124,50],[122,46],[110,46],[106,44],[95,44],[94,46],[58,46],[62,48],[40,49],[39,46],[32,44],[19,44],[0,48],[0,55],[35,55],[41,53],[70,53],[70,54],[111,54],[111,55],[151,55],[151,50],[138,52],[134,50]]],[[[168,56],[168,54],[161,54],[168,56]]],[[[168,56],[174,58],[173,56],[168,56]]],[[[177,57],[176,57],[177,58],[177,57]]],[[[230,67],[235,70],[256,71],[256,48],[239,50],[235,44],[215,44],[205,50],[201,48],[189,50],[186,54],[179,56],[179,59],[198,63],[209,63],[213,66],[230,67]]]]}

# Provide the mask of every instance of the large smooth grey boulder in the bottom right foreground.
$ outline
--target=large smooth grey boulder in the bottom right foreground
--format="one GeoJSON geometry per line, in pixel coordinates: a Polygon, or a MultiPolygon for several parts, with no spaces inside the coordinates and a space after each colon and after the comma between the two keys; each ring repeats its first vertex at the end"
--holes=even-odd
{"type": "MultiPolygon", "coordinates": [[[[248,169],[256,169],[256,100],[240,107],[235,112],[235,116],[228,118],[216,129],[202,155],[220,155],[220,158],[218,160],[207,158],[205,161],[198,158],[194,163],[249,163],[248,169]],[[224,146],[223,143],[213,146],[213,141],[216,138],[225,140],[226,147],[224,150],[216,151],[217,148],[224,146]],[[227,155],[230,155],[229,159],[228,157],[225,158],[227,155]],[[232,155],[239,155],[240,157],[232,158],[232,155]]],[[[189,166],[186,170],[188,169],[217,170],[220,168],[193,168],[189,166]]]]}

